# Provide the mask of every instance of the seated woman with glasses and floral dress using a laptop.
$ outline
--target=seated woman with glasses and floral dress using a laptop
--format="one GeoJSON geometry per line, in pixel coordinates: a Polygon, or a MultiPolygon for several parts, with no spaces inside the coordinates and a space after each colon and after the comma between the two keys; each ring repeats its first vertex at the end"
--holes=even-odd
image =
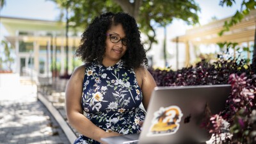
{"type": "Polygon", "coordinates": [[[68,122],[81,135],[74,143],[140,133],[156,82],[147,71],[140,31],[127,13],[103,13],[83,32],[76,55],[85,62],[66,89],[68,122]]]}

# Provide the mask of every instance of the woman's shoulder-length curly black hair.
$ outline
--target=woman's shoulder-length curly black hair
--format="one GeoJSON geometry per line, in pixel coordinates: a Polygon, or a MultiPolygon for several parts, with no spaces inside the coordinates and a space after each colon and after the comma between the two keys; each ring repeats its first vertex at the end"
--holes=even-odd
{"type": "Polygon", "coordinates": [[[124,12],[107,12],[95,17],[81,36],[81,44],[76,50],[76,56],[84,62],[90,63],[96,60],[102,64],[106,52],[106,32],[111,25],[118,24],[122,24],[127,38],[127,51],[121,58],[124,66],[134,69],[148,66],[146,51],[141,44],[141,32],[136,20],[124,12]]]}

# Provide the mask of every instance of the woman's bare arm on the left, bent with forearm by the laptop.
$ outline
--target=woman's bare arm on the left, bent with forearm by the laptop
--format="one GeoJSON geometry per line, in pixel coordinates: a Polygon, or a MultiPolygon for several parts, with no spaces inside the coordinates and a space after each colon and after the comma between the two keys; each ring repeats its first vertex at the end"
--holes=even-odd
{"type": "Polygon", "coordinates": [[[107,133],[84,117],[81,106],[84,73],[84,66],[80,66],[74,71],[67,84],[65,104],[68,122],[84,136],[99,141],[100,143],[104,143],[100,138],[117,136],[120,134],[115,132],[107,133]]]}

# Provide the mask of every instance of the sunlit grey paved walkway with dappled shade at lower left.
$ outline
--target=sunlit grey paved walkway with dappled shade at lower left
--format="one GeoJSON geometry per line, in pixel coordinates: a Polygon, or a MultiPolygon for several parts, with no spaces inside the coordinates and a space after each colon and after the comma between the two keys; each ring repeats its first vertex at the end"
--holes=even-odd
{"type": "Polygon", "coordinates": [[[44,104],[36,87],[0,87],[0,143],[69,144],[67,136],[44,104]]]}

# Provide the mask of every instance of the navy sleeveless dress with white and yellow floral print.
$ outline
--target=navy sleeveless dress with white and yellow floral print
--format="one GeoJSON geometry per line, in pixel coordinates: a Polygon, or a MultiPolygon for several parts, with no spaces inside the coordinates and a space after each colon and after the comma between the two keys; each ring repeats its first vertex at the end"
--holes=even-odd
{"type": "MultiPolygon", "coordinates": [[[[85,117],[106,132],[140,133],[139,121],[145,119],[145,112],[139,107],[142,93],[134,70],[124,68],[123,64],[86,64],[81,104],[85,117]]],[[[80,135],[74,143],[99,142],[80,135]]]]}

